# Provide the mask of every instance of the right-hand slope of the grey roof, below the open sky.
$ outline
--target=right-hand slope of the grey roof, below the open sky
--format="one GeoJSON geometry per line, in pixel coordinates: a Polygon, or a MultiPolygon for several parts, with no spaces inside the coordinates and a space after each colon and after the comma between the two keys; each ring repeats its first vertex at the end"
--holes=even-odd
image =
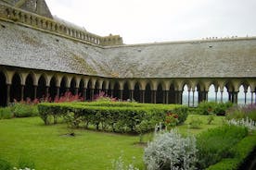
{"type": "Polygon", "coordinates": [[[256,77],[256,38],[126,45],[105,54],[120,77],[256,77]]]}

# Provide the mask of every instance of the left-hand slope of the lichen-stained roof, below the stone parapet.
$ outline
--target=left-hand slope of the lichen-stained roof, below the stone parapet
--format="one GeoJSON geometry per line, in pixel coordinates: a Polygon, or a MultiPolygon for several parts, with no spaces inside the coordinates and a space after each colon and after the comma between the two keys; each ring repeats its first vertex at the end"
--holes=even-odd
{"type": "Polygon", "coordinates": [[[0,37],[0,65],[110,75],[109,63],[99,47],[3,21],[0,37]]]}

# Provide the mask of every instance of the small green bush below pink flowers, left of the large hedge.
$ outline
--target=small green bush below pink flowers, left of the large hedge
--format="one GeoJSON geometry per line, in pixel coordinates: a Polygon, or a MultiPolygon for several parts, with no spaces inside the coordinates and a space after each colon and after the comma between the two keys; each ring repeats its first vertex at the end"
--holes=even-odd
{"type": "Polygon", "coordinates": [[[15,117],[29,117],[38,115],[36,104],[14,103],[11,106],[11,111],[15,117]]]}

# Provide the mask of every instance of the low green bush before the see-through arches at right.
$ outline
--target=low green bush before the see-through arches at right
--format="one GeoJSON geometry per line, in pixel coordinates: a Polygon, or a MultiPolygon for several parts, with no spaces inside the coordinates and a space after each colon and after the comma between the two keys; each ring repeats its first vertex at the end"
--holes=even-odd
{"type": "Polygon", "coordinates": [[[198,114],[200,115],[225,115],[226,110],[232,103],[202,102],[198,104],[198,114]]]}

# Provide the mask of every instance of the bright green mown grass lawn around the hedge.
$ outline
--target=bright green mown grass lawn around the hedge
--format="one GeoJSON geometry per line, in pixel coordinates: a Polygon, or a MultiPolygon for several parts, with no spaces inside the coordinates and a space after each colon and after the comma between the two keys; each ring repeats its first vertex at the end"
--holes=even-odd
{"type": "MultiPolygon", "coordinates": [[[[198,134],[222,124],[223,117],[215,117],[206,125],[204,115],[189,115],[179,126],[183,134],[198,134]],[[187,128],[191,116],[203,121],[201,128],[187,128]]],[[[0,120],[0,158],[18,164],[19,159],[32,160],[38,170],[111,169],[111,161],[123,154],[126,163],[143,169],[143,147],[134,145],[138,137],[78,129],[76,137],[68,137],[65,124],[45,126],[39,117],[0,120]]],[[[147,135],[148,140],[152,135],[147,135]]]]}

